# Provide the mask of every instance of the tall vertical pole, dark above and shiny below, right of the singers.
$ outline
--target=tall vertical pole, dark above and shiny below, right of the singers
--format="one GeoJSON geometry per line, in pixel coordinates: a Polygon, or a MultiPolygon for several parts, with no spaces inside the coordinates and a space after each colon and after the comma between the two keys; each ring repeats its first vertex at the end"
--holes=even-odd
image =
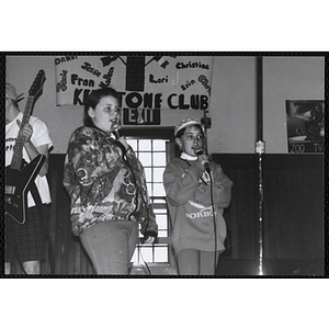
{"type": "Polygon", "coordinates": [[[257,141],[258,154],[258,186],[259,186],[259,218],[258,218],[258,274],[263,275],[263,162],[265,151],[263,141],[263,59],[257,57],[257,141]]]}

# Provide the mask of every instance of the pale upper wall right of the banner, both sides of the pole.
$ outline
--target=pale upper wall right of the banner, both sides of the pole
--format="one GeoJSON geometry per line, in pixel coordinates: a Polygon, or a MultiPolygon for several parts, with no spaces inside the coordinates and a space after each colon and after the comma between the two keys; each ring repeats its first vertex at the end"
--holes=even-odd
{"type": "MultiPolygon", "coordinates": [[[[214,60],[209,152],[254,152],[256,57],[214,60]]],[[[325,99],[324,57],[263,57],[263,139],[269,154],[286,154],[285,100],[325,99]]]]}

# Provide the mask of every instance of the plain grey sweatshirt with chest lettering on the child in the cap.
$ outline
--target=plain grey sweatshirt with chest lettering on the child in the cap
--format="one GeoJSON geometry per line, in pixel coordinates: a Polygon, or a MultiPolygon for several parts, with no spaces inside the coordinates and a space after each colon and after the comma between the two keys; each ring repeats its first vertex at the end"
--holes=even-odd
{"type": "Polygon", "coordinates": [[[167,164],[163,185],[172,224],[171,243],[175,253],[182,249],[225,250],[224,208],[231,198],[232,182],[219,164],[209,162],[211,175],[197,160],[175,158],[167,164]],[[213,203],[211,189],[213,186],[213,203]]]}

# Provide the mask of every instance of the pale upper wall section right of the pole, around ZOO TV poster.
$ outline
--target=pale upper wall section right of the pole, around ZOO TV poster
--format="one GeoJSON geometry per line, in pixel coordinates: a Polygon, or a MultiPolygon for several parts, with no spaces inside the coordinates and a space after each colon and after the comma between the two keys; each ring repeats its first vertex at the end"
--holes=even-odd
{"type": "Polygon", "coordinates": [[[266,152],[287,152],[286,100],[325,100],[324,57],[264,57],[263,139],[266,152]]]}

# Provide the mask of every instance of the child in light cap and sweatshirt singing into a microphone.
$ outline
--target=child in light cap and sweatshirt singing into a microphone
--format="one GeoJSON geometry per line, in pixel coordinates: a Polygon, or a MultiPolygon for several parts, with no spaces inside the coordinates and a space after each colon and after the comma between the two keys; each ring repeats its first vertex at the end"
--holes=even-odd
{"type": "Polygon", "coordinates": [[[180,122],[174,137],[181,155],[163,172],[171,243],[180,275],[214,275],[218,256],[225,250],[223,212],[230,203],[232,182],[219,164],[200,155],[205,146],[204,134],[197,120],[180,122]]]}

